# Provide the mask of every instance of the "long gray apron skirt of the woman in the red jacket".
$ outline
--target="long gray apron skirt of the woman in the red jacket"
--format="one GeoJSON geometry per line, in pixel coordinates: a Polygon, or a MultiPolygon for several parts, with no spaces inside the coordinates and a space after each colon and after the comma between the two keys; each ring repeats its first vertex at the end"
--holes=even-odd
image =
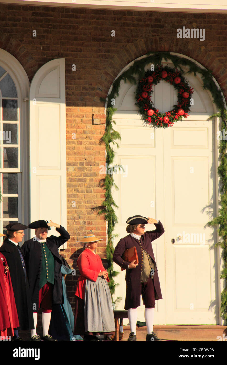
{"type": "Polygon", "coordinates": [[[85,332],[115,331],[110,289],[106,279],[86,280],[85,284],[85,332]]]}

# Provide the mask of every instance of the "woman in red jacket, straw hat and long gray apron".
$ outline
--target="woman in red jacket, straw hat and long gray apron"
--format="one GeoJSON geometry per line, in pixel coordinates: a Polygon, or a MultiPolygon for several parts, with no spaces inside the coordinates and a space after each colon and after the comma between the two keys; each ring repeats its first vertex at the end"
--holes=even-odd
{"type": "Polygon", "coordinates": [[[84,237],[85,250],[79,255],[77,266],[81,276],[77,282],[74,334],[83,341],[98,341],[96,335],[114,334],[115,324],[107,271],[95,254],[97,241],[93,234],[84,237]]]}

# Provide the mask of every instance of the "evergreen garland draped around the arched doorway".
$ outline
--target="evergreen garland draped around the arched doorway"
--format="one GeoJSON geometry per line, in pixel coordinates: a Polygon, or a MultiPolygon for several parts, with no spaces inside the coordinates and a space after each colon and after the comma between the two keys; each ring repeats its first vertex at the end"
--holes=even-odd
{"type": "MultiPolygon", "coordinates": [[[[105,143],[106,146],[106,163],[107,166],[113,163],[114,158],[114,150],[110,147],[110,143],[114,143],[117,145],[116,139],[120,139],[120,134],[113,129],[113,123],[116,124],[112,120],[112,116],[114,112],[117,110],[113,107],[115,105],[114,100],[117,96],[119,96],[120,90],[120,82],[124,80],[124,82],[129,81],[132,84],[136,84],[137,80],[134,75],[138,75],[139,79],[143,78],[145,75],[145,66],[148,64],[153,64],[154,68],[161,65],[162,59],[165,61],[170,60],[175,68],[179,69],[182,74],[184,74],[184,70],[182,66],[188,68],[187,73],[193,73],[196,76],[198,73],[201,75],[201,80],[203,81],[203,89],[210,91],[213,102],[216,104],[219,112],[217,114],[212,115],[209,119],[214,116],[218,116],[222,119],[222,129],[227,130],[227,110],[225,109],[225,102],[222,91],[217,87],[215,81],[213,80],[213,76],[210,70],[201,69],[194,62],[189,59],[181,58],[179,56],[173,55],[169,52],[158,52],[158,53],[147,53],[147,57],[144,57],[138,61],[134,61],[133,65],[130,66],[125,72],[123,72],[116,80],[114,80],[111,92],[107,96],[107,99],[100,98],[101,101],[107,101],[107,109],[106,109],[106,127],[105,132],[100,139],[100,144],[105,143]]],[[[215,226],[219,225],[218,233],[220,236],[220,242],[216,243],[215,246],[220,245],[223,249],[223,262],[224,269],[221,274],[221,278],[224,279],[224,289],[221,294],[221,316],[225,321],[227,321],[227,153],[226,153],[226,145],[227,141],[221,140],[219,143],[219,152],[220,152],[220,165],[218,167],[218,174],[220,176],[221,187],[221,197],[220,197],[220,205],[219,215],[214,218],[212,221],[208,222],[208,225],[215,226]]],[[[103,201],[101,206],[94,207],[93,211],[97,211],[98,215],[104,215],[105,220],[107,221],[107,247],[106,247],[106,256],[107,256],[107,264],[108,264],[108,274],[110,278],[110,292],[111,295],[114,294],[115,288],[117,285],[114,283],[114,277],[117,276],[118,272],[113,270],[113,240],[116,235],[113,235],[113,230],[115,224],[118,222],[117,216],[114,212],[114,208],[118,208],[116,203],[113,200],[113,196],[111,193],[112,188],[116,188],[117,186],[114,184],[113,174],[107,174],[105,178],[101,179],[99,182],[99,187],[102,187],[105,190],[105,200],[103,201]]],[[[118,299],[117,299],[118,300],[118,299]]]]}

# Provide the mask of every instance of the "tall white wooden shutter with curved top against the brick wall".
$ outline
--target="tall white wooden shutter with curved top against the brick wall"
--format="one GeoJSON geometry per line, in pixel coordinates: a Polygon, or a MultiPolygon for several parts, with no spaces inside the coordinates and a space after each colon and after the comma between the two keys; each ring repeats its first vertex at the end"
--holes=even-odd
{"type": "MultiPolygon", "coordinates": [[[[47,62],[31,82],[30,168],[31,222],[51,219],[66,228],[64,58],[47,62]]],[[[51,228],[50,234],[58,235],[55,228],[51,228]]]]}

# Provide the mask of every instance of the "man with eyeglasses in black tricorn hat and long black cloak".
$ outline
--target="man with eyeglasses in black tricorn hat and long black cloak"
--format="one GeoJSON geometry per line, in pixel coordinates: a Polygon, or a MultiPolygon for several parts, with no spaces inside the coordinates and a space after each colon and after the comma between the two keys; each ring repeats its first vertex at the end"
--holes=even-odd
{"type": "Polygon", "coordinates": [[[18,330],[25,331],[34,329],[31,295],[28,286],[24,255],[18,244],[22,241],[24,230],[27,228],[28,226],[21,223],[9,223],[6,226],[7,234],[5,235],[3,245],[0,247],[0,251],[5,256],[9,266],[20,324],[20,327],[14,330],[15,336],[12,338],[12,341],[23,341],[23,339],[19,337],[18,330]]]}

